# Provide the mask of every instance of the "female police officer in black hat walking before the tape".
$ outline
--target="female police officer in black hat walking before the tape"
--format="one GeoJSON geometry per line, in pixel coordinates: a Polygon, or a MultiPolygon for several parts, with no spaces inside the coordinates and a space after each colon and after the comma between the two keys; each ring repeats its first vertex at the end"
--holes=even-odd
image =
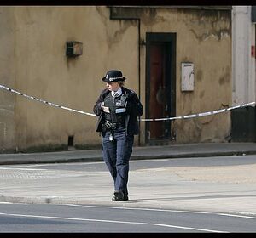
{"type": "Polygon", "coordinates": [[[124,87],[121,71],[108,71],[102,81],[107,88],[93,107],[98,116],[96,132],[102,134],[103,160],[113,178],[112,201],[127,201],[129,160],[134,135],[139,133],[137,117],[143,115],[143,105],[134,91],[124,87]]]}

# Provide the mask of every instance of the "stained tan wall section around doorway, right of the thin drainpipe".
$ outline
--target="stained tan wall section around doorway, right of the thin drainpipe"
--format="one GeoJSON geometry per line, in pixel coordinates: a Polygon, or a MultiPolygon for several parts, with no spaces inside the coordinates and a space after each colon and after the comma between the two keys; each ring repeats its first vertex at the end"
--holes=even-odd
{"type": "MultiPolygon", "coordinates": [[[[142,29],[177,32],[177,116],[232,105],[230,12],[148,9],[142,29]],[[181,63],[188,61],[195,64],[195,90],[182,92],[181,63]]],[[[230,134],[230,113],[172,123],[177,143],[224,141],[230,134]]]]}

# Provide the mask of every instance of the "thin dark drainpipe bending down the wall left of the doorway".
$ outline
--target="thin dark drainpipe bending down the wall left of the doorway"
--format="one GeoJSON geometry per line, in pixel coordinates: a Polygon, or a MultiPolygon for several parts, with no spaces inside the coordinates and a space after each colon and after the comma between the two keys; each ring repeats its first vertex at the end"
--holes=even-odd
{"type": "MultiPolygon", "coordinates": [[[[140,18],[122,18],[122,17],[111,17],[110,9],[110,20],[137,20],[138,22],[138,98],[141,100],[141,19],[140,18]]],[[[138,121],[139,128],[141,127],[141,122],[138,121]]],[[[138,145],[141,145],[141,134],[138,133],[138,145]]]]}

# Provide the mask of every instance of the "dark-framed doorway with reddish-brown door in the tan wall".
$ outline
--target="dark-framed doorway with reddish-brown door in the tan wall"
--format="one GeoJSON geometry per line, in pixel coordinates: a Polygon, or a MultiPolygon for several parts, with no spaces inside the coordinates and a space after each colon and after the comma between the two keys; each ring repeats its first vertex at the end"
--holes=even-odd
{"type": "MultiPolygon", "coordinates": [[[[146,117],[175,116],[176,33],[146,33],[146,117]]],[[[173,139],[170,120],[146,122],[146,144],[173,139]]]]}

